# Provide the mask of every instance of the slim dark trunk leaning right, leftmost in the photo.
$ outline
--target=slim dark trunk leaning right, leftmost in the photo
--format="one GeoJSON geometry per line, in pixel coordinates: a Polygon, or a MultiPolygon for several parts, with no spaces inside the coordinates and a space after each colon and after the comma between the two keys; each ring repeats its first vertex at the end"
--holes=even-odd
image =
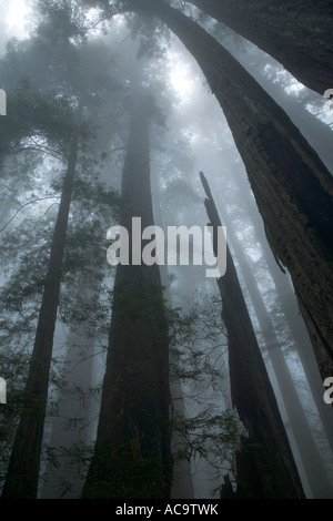
{"type": "Polygon", "coordinates": [[[4,499],[37,498],[53,334],[78,150],[79,133],[73,137],[63,181],[34,345],[22,400],[22,412],[2,490],[2,498],[4,499]]]}

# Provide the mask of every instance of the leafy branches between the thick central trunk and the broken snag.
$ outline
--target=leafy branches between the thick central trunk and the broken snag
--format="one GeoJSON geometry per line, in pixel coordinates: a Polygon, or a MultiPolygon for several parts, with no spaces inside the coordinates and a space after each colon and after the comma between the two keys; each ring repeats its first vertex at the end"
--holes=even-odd
{"type": "Polygon", "coordinates": [[[190,310],[168,307],[171,378],[182,382],[183,407],[173,402],[173,458],[206,462],[218,482],[235,472],[244,431],[226,391],[228,341],[221,299],[196,297],[190,310]]]}

